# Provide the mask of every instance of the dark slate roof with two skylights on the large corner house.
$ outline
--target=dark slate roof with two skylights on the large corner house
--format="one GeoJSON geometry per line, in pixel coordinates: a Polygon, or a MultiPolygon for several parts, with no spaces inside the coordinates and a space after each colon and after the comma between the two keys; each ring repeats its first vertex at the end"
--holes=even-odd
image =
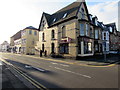
{"type": "MultiPolygon", "coordinates": [[[[43,12],[42,18],[43,16],[45,16],[49,27],[59,24],[61,22],[64,22],[66,20],[72,19],[72,18],[77,18],[77,13],[82,3],[85,5],[85,8],[87,8],[85,2],[73,2],[72,4],[60,9],[59,11],[53,13],[52,15],[43,12]],[[67,13],[66,17],[63,18],[64,14],[66,13],[67,13]],[[56,20],[53,22],[54,19],[56,20]]],[[[86,10],[88,13],[88,9],[86,10]]],[[[41,21],[40,21],[39,29],[40,29],[40,26],[41,26],[41,21]]]]}

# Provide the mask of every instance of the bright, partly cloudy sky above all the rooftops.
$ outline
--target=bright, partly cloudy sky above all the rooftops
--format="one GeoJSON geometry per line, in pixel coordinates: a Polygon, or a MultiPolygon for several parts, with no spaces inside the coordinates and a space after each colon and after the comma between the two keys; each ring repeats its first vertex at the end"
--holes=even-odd
{"type": "MultiPolygon", "coordinates": [[[[43,12],[52,14],[76,0],[1,0],[0,44],[28,26],[39,27],[43,12]]],[[[81,0],[78,0],[81,1],[81,0]]],[[[118,25],[118,0],[85,0],[89,13],[107,24],[118,25]]]]}

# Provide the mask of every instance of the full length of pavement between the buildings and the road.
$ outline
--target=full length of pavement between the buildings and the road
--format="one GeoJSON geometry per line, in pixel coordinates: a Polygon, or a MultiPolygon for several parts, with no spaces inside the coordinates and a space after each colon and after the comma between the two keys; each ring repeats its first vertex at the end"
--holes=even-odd
{"type": "MultiPolygon", "coordinates": [[[[7,53],[12,54],[12,53],[7,53]]],[[[15,54],[15,53],[14,53],[15,54]]],[[[53,60],[57,62],[64,62],[64,63],[72,63],[72,64],[79,64],[84,66],[95,66],[95,67],[106,67],[106,66],[113,66],[114,64],[120,63],[120,55],[109,55],[107,56],[107,60],[104,61],[103,56],[91,56],[91,57],[80,57],[77,60],[76,59],[67,59],[67,58],[53,58],[53,57],[40,57],[39,55],[24,55],[24,54],[15,54],[15,55],[21,55],[21,56],[28,56],[33,58],[39,58],[44,60],[53,60]]]]}

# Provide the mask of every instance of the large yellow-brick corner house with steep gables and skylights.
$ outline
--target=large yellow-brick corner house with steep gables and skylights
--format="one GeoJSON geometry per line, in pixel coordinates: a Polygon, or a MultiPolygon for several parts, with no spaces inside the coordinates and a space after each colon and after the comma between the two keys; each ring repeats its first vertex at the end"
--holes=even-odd
{"type": "Polygon", "coordinates": [[[52,15],[43,12],[37,48],[65,57],[94,54],[94,28],[85,2],[73,2],[52,15]]]}

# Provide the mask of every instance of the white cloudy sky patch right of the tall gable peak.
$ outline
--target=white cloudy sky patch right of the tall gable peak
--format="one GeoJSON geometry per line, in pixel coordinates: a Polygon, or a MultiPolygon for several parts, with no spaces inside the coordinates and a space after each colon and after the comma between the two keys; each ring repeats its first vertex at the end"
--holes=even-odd
{"type": "Polygon", "coordinates": [[[118,27],[118,1],[101,2],[88,5],[89,13],[96,15],[103,23],[116,22],[118,27]]]}

